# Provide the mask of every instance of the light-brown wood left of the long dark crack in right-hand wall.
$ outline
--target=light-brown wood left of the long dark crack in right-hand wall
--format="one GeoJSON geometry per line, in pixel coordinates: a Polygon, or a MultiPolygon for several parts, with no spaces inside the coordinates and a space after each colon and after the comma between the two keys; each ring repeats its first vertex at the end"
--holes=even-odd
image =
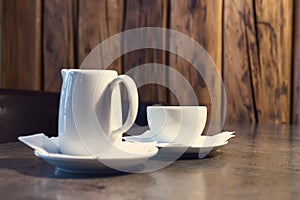
{"type": "Polygon", "coordinates": [[[252,0],[224,1],[224,82],[229,121],[255,122],[251,65],[258,62],[252,0]]]}

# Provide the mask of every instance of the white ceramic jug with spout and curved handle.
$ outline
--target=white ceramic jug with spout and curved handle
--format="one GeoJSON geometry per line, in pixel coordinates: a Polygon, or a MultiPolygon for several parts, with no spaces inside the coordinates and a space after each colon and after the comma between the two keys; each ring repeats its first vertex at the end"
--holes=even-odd
{"type": "Polygon", "coordinates": [[[138,93],[134,81],[113,70],[63,69],[59,105],[59,149],[71,155],[105,156],[122,141],[134,123],[138,93]],[[129,97],[127,119],[122,124],[119,84],[129,97]]]}

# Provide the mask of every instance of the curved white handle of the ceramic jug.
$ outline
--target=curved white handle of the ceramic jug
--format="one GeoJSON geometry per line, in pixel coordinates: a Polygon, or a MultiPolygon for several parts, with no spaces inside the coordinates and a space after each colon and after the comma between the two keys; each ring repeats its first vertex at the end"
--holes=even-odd
{"type": "Polygon", "coordinates": [[[120,132],[124,133],[128,131],[134,123],[138,112],[139,98],[134,81],[127,75],[120,75],[109,83],[109,87],[111,88],[111,90],[113,90],[120,83],[123,83],[127,90],[127,94],[129,97],[129,111],[124,124],[117,130],[112,131],[113,134],[120,132]]]}

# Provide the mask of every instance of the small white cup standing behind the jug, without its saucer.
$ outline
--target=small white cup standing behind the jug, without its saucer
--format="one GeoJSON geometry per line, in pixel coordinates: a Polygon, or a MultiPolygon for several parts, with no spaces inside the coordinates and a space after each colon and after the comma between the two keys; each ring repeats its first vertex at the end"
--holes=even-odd
{"type": "Polygon", "coordinates": [[[207,119],[205,106],[148,106],[147,120],[157,142],[190,146],[200,140],[207,119]]]}

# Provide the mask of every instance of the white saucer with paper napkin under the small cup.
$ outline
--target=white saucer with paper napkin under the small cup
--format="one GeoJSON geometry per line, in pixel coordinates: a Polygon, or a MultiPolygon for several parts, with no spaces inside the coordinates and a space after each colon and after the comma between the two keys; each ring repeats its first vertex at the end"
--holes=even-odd
{"type": "Polygon", "coordinates": [[[210,151],[228,144],[228,140],[232,137],[235,137],[234,132],[228,131],[213,136],[200,136],[200,141],[194,141],[190,146],[187,146],[178,143],[158,142],[154,134],[148,130],[141,135],[127,136],[123,139],[130,142],[155,142],[156,147],[163,149],[164,154],[199,154],[199,158],[203,158],[210,151]]]}

